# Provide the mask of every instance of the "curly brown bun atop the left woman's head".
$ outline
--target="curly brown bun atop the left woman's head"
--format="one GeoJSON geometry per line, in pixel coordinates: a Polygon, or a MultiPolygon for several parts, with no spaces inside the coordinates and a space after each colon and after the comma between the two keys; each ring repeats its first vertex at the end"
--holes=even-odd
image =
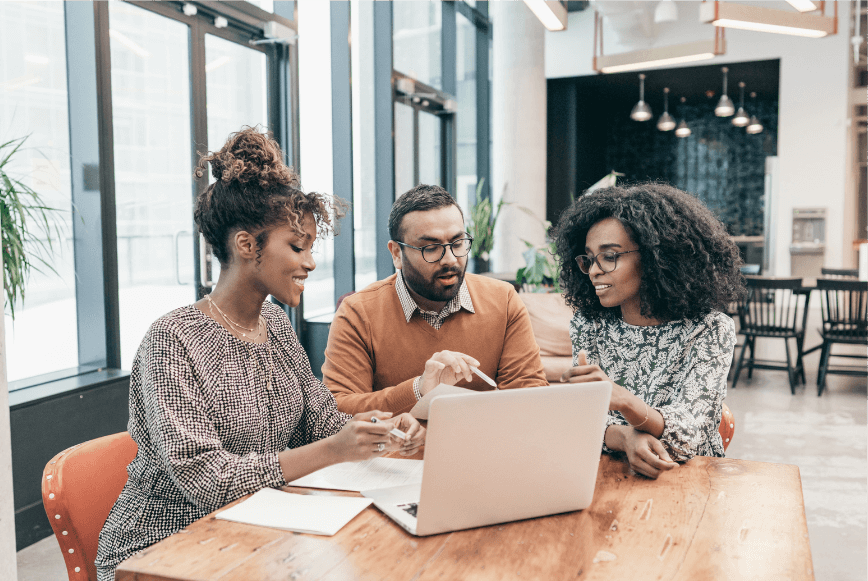
{"type": "Polygon", "coordinates": [[[232,182],[242,186],[254,182],[265,190],[300,187],[298,174],[283,162],[283,153],[271,133],[262,133],[253,127],[244,127],[230,135],[219,151],[200,154],[193,172],[196,178],[205,175],[209,162],[211,175],[225,186],[232,182]]]}

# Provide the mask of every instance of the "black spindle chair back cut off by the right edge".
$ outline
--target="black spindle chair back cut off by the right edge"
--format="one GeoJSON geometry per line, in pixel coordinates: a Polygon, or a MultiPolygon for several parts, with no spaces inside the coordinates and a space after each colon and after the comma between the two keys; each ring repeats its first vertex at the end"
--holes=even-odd
{"type": "Polygon", "coordinates": [[[817,279],[823,335],[854,343],[868,339],[868,281],[817,279]]]}

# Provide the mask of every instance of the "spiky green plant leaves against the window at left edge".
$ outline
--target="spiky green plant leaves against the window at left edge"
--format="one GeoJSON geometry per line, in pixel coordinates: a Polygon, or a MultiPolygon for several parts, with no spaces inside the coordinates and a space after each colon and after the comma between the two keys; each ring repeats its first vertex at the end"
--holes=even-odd
{"type": "Polygon", "coordinates": [[[45,260],[52,250],[52,233],[60,237],[49,214],[58,211],[45,204],[30,186],[9,174],[12,157],[21,149],[27,137],[0,143],[0,225],[3,241],[3,288],[5,306],[15,320],[15,303],[24,298],[24,285],[31,270],[47,268],[57,271],[45,260]]]}

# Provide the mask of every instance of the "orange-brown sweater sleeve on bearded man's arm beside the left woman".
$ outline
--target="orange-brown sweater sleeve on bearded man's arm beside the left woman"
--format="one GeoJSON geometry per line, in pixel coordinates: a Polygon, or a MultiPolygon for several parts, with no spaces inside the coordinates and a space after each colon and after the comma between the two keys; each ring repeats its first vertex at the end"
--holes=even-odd
{"type": "MultiPolygon", "coordinates": [[[[323,381],[348,414],[380,410],[395,415],[416,405],[411,377],[398,385],[374,391],[374,354],[371,329],[357,307],[341,303],[329,329],[323,381]]],[[[537,357],[539,359],[539,357],[537,357]]]]}

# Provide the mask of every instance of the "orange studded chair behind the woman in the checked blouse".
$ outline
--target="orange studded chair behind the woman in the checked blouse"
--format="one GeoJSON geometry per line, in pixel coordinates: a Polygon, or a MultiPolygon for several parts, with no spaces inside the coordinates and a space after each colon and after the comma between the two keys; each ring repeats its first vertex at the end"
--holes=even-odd
{"type": "Polygon", "coordinates": [[[42,504],[70,581],[96,581],[97,542],[138,447],[128,432],[67,448],[45,465],[42,504]]]}

